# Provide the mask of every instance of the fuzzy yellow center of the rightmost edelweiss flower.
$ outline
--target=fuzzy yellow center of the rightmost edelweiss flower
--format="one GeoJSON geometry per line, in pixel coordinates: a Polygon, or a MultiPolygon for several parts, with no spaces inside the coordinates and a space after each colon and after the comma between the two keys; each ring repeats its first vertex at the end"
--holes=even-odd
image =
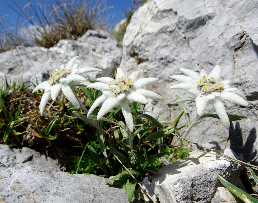
{"type": "Polygon", "coordinates": [[[210,94],[212,92],[221,92],[224,90],[224,83],[216,83],[216,79],[214,77],[207,79],[203,76],[196,82],[196,84],[202,95],[210,94]]]}

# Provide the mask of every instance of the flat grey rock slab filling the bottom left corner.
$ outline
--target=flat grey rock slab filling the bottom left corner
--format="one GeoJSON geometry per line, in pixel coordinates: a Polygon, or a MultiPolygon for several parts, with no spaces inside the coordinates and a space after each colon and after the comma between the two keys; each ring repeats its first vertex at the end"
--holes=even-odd
{"type": "Polygon", "coordinates": [[[0,202],[48,203],[126,203],[123,189],[109,187],[107,178],[71,175],[35,166],[0,165],[0,202]]]}

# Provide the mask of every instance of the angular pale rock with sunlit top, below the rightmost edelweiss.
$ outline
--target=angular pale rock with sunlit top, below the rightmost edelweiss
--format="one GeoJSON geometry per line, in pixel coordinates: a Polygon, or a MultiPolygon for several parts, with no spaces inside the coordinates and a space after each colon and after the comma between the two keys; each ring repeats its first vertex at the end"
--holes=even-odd
{"type": "MultiPolygon", "coordinates": [[[[235,158],[232,149],[219,152],[235,158]]],[[[222,186],[215,172],[236,184],[240,169],[240,164],[200,152],[160,169],[152,177],[151,187],[161,203],[208,203],[217,187],[222,186]]]]}

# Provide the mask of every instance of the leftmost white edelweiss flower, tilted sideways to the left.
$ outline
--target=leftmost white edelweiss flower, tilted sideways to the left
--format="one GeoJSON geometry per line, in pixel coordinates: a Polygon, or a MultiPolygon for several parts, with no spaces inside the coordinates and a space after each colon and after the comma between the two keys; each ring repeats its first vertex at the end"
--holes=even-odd
{"type": "Polygon", "coordinates": [[[66,68],[64,65],[61,65],[59,69],[54,70],[48,81],[42,82],[33,90],[33,93],[38,91],[39,89],[44,90],[44,94],[42,95],[42,99],[39,104],[39,110],[41,115],[43,114],[46,103],[50,99],[50,97],[52,98],[52,100],[55,100],[60,91],[64,93],[66,98],[75,107],[79,107],[79,102],[76,99],[72,88],[74,88],[75,86],[85,86],[83,85],[83,82],[85,82],[86,79],[81,76],[81,74],[101,70],[91,67],[77,69],[78,64],[74,64],[77,58],[78,56],[69,61],[66,68]]]}

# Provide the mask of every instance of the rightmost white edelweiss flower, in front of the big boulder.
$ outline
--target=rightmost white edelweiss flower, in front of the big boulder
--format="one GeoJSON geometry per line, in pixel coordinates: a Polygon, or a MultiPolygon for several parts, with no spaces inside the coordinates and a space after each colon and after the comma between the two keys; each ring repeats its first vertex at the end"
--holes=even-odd
{"type": "Polygon", "coordinates": [[[221,79],[221,67],[216,65],[210,74],[201,70],[200,75],[189,69],[179,69],[187,76],[174,75],[172,79],[178,80],[178,85],[170,89],[183,89],[193,94],[196,99],[197,114],[200,116],[204,111],[206,103],[214,104],[218,116],[225,128],[229,129],[229,118],[224,107],[224,101],[232,101],[247,107],[247,99],[237,88],[230,87],[230,80],[221,79]],[[189,77],[188,77],[189,76],[189,77]]]}

